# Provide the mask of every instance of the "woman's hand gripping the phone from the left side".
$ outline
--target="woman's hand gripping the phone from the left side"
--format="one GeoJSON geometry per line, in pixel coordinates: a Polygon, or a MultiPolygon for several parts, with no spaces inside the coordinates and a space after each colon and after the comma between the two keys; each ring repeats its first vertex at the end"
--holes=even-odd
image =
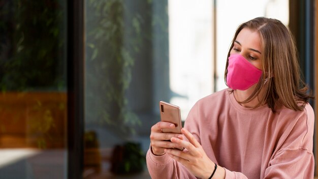
{"type": "Polygon", "coordinates": [[[180,147],[180,145],[178,145],[176,143],[172,143],[170,141],[170,139],[171,139],[171,137],[180,138],[181,134],[164,133],[163,129],[165,129],[165,128],[173,129],[173,128],[175,128],[175,125],[173,123],[168,123],[168,122],[158,122],[151,127],[151,133],[150,133],[151,151],[156,156],[164,155],[165,148],[180,147]]]}

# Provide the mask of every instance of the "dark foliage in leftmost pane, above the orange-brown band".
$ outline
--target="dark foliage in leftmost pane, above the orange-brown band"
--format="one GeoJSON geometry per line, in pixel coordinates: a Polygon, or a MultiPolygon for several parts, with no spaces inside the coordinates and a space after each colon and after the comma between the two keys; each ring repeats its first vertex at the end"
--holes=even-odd
{"type": "Polygon", "coordinates": [[[5,1],[0,6],[0,90],[66,89],[63,4],[5,1]]]}

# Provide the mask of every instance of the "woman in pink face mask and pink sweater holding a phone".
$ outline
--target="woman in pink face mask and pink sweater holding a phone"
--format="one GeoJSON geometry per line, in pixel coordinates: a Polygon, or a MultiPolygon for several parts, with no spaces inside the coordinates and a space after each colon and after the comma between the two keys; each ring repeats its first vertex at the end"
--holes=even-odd
{"type": "Polygon", "coordinates": [[[162,133],[171,123],[152,126],[151,177],[313,178],[314,114],[299,71],[295,42],[280,21],[241,24],[227,58],[229,88],[194,105],[183,135],[162,133]]]}

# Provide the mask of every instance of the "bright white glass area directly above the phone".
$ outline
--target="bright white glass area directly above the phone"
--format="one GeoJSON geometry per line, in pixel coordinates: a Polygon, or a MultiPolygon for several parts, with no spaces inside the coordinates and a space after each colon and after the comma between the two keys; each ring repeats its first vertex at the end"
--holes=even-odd
{"type": "Polygon", "coordinates": [[[168,2],[169,102],[181,108],[184,121],[192,106],[213,92],[213,5],[211,0],[168,2]]]}

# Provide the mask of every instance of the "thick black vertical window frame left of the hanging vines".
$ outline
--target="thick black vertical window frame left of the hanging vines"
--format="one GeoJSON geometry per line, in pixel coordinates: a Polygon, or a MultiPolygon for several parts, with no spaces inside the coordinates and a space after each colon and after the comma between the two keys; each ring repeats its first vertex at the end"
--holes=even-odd
{"type": "Polygon", "coordinates": [[[68,1],[68,169],[67,178],[83,178],[84,1],[68,1]]]}

